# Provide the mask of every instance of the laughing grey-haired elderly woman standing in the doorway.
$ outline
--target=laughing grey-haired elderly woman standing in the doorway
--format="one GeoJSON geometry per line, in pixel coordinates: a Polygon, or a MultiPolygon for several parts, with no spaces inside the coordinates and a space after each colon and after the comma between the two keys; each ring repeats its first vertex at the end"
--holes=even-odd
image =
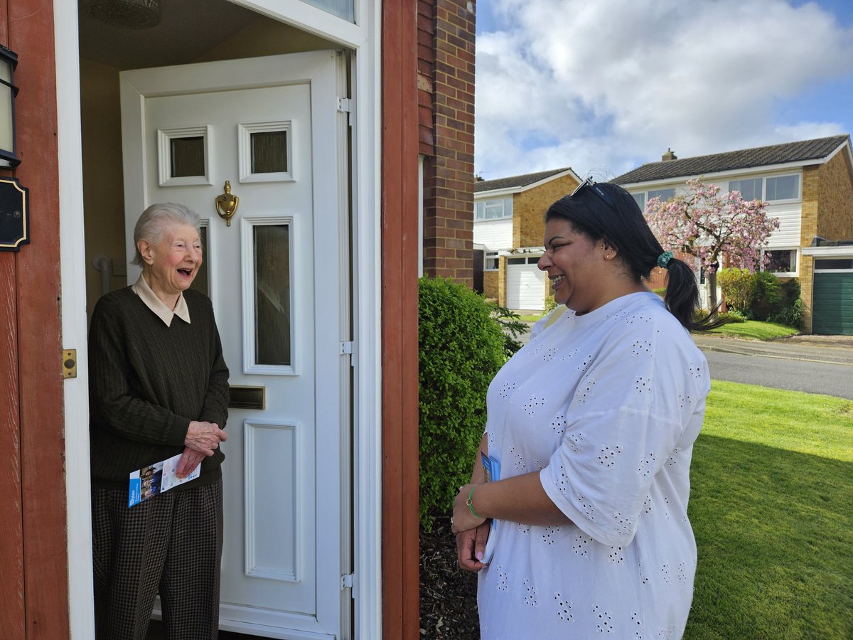
{"type": "Polygon", "coordinates": [[[189,289],[199,217],[148,207],[142,276],[98,300],[89,333],[92,533],[98,638],[143,640],[160,594],[168,638],[215,638],[228,368],[210,300],[189,289]],[[183,454],[200,476],[128,508],[131,471],[183,454]]]}

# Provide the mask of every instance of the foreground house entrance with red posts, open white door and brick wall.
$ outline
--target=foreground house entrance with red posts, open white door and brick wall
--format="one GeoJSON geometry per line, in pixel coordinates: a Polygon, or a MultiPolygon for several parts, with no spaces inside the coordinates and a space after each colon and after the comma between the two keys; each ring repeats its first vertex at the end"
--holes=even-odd
{"type": "Polygon", "coordinates": [[[465,0],[2,3],[3,640],[95,637],[87,316],[166,200],[203,218],[194,286],[254,398],[223,445],[221,628],[420,637],[417,278],[471,282],[474,20],[465,0]],[[255,348],[262,245],[287,266],[287,365],[255,348]]]}

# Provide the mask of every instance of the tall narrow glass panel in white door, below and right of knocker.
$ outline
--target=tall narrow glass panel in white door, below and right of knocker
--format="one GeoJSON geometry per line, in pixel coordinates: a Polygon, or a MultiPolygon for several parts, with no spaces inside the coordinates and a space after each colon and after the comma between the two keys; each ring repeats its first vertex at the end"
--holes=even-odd
{"type": "Polygon", "coordinates": [[[253,229],[255,364],[289,366],[290,227],[258,224],[253,229]]]}

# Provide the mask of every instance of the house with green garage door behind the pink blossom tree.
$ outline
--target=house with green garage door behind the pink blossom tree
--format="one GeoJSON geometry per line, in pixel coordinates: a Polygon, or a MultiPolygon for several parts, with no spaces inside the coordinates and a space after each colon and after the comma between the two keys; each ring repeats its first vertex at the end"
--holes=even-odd
{"type": "MultiPolygon", "coordinates": [[[[641,208],[686,189],[689,178],[768,201],[780,226],[763,251],[768,271],[798,278],[804,331],[853,335],[853,154],[850,136],[677,158],[670,150],[616,177],[641,208]]],[[[476,238],[476,230],[475,230],[476,238]]],[[[702,282],[704,284],[704,282],[702,282]]]]}

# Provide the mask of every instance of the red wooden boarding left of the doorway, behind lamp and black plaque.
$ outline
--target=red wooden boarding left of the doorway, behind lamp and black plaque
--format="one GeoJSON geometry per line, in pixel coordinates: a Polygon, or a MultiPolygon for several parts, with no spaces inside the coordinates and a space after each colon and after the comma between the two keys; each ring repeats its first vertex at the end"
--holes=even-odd
{"type": "Polygon", "coordinates": [[[0,629],[10,639],[61,638],[69,623],[53,0],[0,3],[0,30],[18,54],[14,175],[29,189],[31,238],[0,256],[0,629]]]}

